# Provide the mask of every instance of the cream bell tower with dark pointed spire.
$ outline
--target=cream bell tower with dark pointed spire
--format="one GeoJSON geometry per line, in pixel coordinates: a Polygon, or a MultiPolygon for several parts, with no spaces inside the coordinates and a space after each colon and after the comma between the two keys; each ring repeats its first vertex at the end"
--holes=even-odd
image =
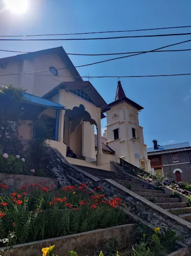
{"type": "Polygon", "coordinates": [[[121,81],[117,82],[115,101],[108,105],[110,110],[106,112],[107,145],[116,152],[117,158],[150,171],[143,128],[138,122],[138,112],[143,107],[126,97],[121,81]]]}

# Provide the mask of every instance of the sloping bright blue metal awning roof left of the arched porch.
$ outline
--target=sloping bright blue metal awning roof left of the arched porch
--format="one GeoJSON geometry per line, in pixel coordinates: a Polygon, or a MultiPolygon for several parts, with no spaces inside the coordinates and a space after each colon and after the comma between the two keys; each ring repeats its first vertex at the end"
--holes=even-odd
{"type": "Polygon", "coordinates": [[[29,93],[24,93],[24,98],[26,101],[32,102],[37,105],[42,105],[44,107],[49,107],[49,108],[57,108],[57,109],[66,110],[66,108],[59,103],[55,103],[53,101],[49,101],[47,99],[29,94],[29,93]]]}

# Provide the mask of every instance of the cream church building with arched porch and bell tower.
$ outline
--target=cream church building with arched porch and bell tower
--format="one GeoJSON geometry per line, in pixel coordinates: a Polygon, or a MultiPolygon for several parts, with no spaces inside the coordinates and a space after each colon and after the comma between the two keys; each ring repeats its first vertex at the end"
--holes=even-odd
{"type": "MultiPolygon", "coordinates": [[[[12,83],[22,87],[33,105],[43,105],[34,114],[39,120],[46,120],[53,130],[49,144],[64,157],[67,147],[74,151],[77,159],[68,158],[68,161],[79,165],[96,162],[100,169],[110,170],[110,161],[121,157],[150,170],[138,124],[138,112],[143,107],[126,97],[120,81],[115,101],[107,105],[94,86],[83,81],[63,47],[1,58],[0,74],[0,85],[12,83]],[[104,113],[107,140],[101,136],[104,113]]],[[[38,131],[32,130],[31,120],[26,118],[20,127],[23,140],[38,137],[38,131]]]]}

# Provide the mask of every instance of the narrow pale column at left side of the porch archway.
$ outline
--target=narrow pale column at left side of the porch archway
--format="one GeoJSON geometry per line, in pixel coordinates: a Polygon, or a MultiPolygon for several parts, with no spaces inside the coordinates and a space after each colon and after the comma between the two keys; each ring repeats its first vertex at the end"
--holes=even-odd
{"type": "MultiPolygon", "coordinates": [[[[58,103],[64,105],[64,90],[59,91],[58,103]]],[[[59,111],[58,141],[64,142],[64,114],[65,110],[59,111]]]]}

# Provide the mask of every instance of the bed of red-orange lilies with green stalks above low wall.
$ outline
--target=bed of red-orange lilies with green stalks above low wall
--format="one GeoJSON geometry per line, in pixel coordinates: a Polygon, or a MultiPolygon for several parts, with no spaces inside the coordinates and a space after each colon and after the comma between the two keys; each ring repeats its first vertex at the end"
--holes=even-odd
{"type": "Polygon", "coordinates": [[[120,199],[104,200],[101,187],[97,194],[85,184],[62,189],[31,184],[30,190],[22,186],[11,194],[7,188],[0,185],[0,238],[14,233],[11,244],[127,223],[125,213],[117,208],[120,199]]]}

